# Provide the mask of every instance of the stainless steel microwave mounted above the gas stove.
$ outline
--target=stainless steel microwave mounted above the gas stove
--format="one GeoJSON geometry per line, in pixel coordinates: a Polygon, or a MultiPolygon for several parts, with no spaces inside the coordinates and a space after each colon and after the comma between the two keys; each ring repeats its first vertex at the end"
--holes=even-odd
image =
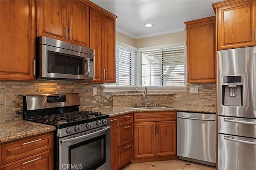
{"type": "Polygon", "coordinates": [[[94,49],[48,37],[36,38],[36,79],[94,79],[94,49]]]}

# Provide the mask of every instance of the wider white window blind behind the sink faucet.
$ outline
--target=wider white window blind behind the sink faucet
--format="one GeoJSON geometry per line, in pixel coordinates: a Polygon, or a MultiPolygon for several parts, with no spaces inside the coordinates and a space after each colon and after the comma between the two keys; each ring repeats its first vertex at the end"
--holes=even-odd
{"type": "Polygon", "coordinates": [[[140,51],[141,86],[186,86],[186,46],[140,51]]]}

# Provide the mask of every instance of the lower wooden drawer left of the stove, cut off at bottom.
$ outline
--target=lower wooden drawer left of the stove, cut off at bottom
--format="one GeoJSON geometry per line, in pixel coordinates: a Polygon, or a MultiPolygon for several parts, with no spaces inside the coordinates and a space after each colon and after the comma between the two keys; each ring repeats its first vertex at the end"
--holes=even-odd
{"type": "Polygon", "coordinates": [[[1,170],[53,170],[53,150],[1,166],[1,170]]]}

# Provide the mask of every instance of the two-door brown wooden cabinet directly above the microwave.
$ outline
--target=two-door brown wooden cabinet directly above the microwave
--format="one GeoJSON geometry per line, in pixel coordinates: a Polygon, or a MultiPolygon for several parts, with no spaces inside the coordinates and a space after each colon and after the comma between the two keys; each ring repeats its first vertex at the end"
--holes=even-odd
{"type": "Polygon", "coordinates": [[[37,0],[36,36],[89,47],[89,6],[76,0],[37,0]]]}

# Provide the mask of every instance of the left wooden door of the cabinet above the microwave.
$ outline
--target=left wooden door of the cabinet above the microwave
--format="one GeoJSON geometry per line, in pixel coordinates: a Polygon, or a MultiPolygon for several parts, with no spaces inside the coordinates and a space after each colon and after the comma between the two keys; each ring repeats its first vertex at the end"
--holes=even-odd
{"type": "Polygon", "coordinates": [[[67,41],[67,1],[36,1],[36,36],[67,41]]]}

